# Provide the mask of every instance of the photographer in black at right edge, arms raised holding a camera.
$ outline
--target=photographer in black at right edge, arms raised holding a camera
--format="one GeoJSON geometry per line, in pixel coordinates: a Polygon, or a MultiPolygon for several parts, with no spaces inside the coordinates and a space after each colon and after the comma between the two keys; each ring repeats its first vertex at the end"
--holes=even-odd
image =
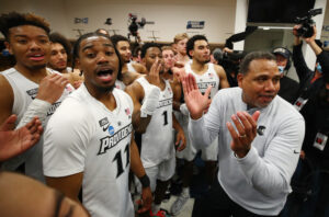
{"type": "Polygon", "coordinates": [[[316,43],[315,26],[310,37],[299,36],[299,28],[300,25],[296,25],[293,30],[293,59],[300,87],[295,106],[304,116],[306,133],[298,167],[292,180],[297,191],[290,195],[283,216],[322,217],[329,212],[329,56],[316,43]],[[310,70],[304,60],[303,41],[317,56],[315,70],[310,70]],[[307,184],[305,190],[298,189],[304,183],[307,184]]]}

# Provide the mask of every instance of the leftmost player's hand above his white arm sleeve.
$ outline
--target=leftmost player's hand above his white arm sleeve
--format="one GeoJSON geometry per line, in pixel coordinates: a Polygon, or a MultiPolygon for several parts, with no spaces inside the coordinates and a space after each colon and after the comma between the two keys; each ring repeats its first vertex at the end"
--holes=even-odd
{"type": "Polygon", "coordinates": [[[68,83],[67,78],[58,73],[52,73],[41,81],[36,98],[53,104],[61,96],[68,83]]]}

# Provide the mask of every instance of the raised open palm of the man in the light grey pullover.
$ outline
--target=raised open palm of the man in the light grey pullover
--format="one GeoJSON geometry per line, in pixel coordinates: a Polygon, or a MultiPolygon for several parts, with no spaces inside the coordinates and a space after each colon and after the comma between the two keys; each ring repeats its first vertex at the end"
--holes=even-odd
{"type": "Polygon", "coordinates": [[[209,94],[212,85],[209,85],[204,95],[200,92],[195,78],[189,73],[183,78],[183,91],[186,106],[193,119],[202,117],[203,112],[207,110],[211,104],[209,94]]]}

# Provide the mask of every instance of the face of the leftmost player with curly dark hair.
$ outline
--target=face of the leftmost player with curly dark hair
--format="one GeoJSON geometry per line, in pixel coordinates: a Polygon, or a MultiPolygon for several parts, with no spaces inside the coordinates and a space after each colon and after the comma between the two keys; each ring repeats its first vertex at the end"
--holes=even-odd
{"type": "Polygon", "coordinates": [[[9,52],[14,55],[16,66],[29,70],[46,67],[50,42],[47,33],[34,25],[20,25],[9,30],[9,52]]]}

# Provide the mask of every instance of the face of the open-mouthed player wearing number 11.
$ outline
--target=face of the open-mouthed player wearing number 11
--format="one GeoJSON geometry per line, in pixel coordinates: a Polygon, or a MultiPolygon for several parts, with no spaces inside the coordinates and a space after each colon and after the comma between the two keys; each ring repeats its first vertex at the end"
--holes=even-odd
{"type": "Polygon", "coordinates": [[[84,75],[91,94],[112,91],[118,72],[118,56],[105,36],[91,36],[81,41],[77,61],[84,75]]]}

